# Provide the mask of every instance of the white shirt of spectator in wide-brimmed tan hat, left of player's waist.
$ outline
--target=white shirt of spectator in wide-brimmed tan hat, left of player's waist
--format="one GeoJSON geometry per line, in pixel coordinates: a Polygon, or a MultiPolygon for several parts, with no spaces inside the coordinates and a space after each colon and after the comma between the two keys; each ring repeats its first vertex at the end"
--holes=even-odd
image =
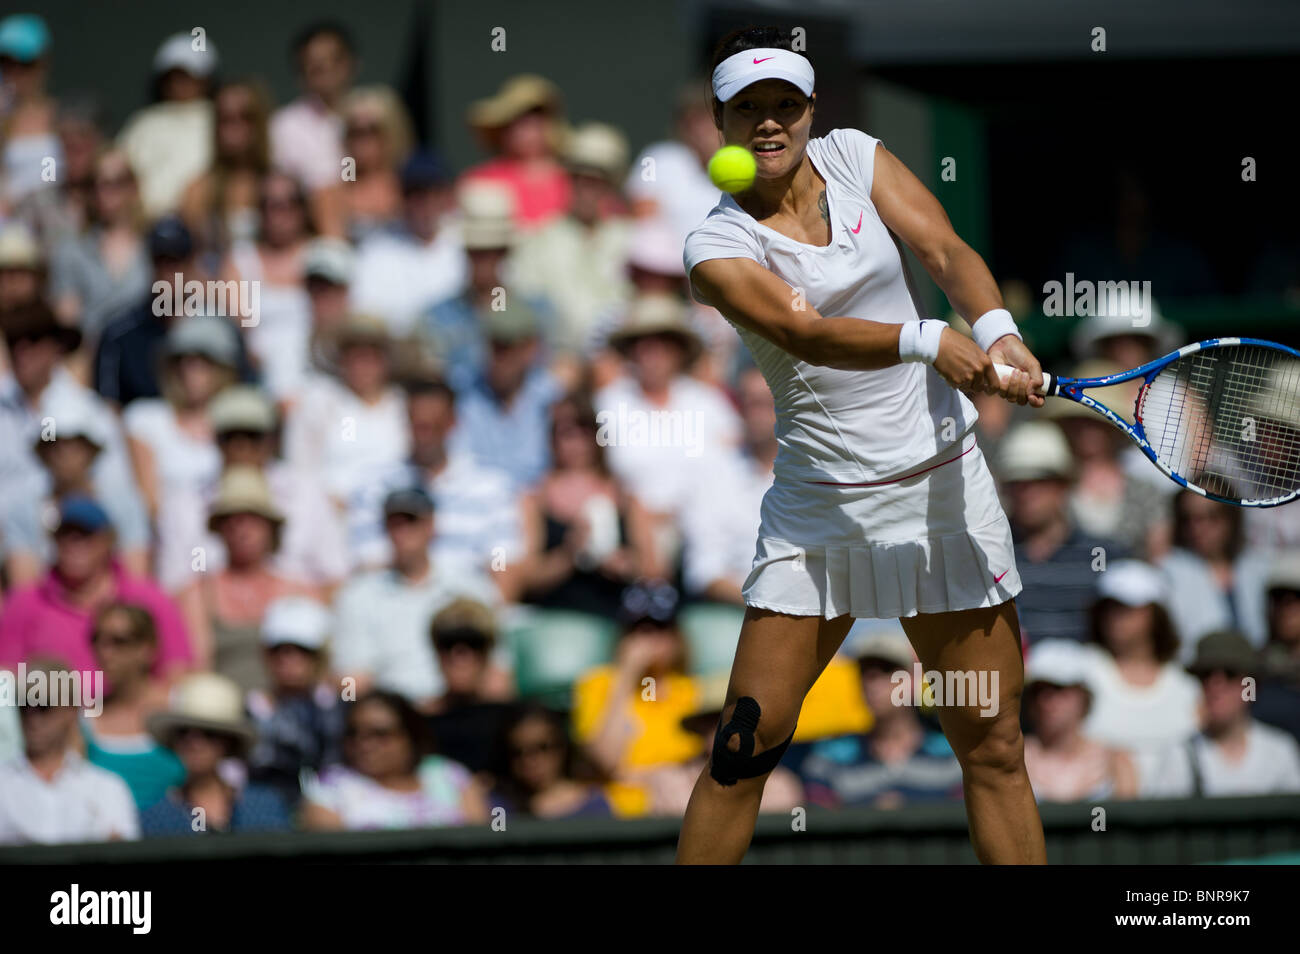
{"type": "MultiPolygon", "coordinates": [[[[595,394],[597,441],[610,469],[649,509],[675,512],[690,489],[693,463],[740,443],[736,408],[712,385],[679,376],[667,404],[651,404],[629,376],[595,394]]],[[[751,541],[753,542],[753,541],[751,541]]]]}

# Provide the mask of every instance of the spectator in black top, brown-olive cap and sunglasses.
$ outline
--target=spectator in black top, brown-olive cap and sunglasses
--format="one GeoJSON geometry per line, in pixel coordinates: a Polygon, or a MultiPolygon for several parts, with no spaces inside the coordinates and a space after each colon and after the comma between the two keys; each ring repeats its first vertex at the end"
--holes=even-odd
{"type": "Polygon", "coordinates": [[[456,598],[433,617],[429,634],[445,685],[426,707],[439,751],[471,772],[503,771],[497,746],[511,715],[506,697],[514,688],[495,678],[493,608],[472,597],[456,598]]]}

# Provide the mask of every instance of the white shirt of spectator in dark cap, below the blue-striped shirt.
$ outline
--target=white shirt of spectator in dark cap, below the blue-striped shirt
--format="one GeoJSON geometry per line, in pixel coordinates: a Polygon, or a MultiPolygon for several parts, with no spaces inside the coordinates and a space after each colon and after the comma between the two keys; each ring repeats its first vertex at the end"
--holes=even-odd
{"type": "Polygon", "coordinates": [[[419,584],[391,569],[348,581],[334,603],[334,671],[344,676],[367,673],[378,688],[411,701],[438,695],[446,681],[429,624],[462,595],[488,606],[500,602],[497,587],[484,576],[441,567],[433,567],[419,584]]]}

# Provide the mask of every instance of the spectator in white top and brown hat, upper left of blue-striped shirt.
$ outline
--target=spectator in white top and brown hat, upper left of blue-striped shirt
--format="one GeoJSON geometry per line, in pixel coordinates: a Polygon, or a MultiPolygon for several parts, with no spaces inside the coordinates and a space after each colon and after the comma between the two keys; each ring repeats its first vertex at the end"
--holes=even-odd
{"type": "Polygon", "coordinates": [[[347,318],[335,338],[338,377],[313,373],[289,419],[289,461],[320,474],[339,506],[410,452],[406,402],[393,383],[393,347],[382,321],[347,318]]]}

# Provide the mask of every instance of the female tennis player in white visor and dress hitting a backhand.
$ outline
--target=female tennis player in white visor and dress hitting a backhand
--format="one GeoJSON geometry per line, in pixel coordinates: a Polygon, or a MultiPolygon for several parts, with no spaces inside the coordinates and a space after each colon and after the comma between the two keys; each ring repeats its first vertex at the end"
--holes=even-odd
{"type": "MultiPolygon", "coordinates": [[[[775,27],[714,57],[714,121],[753,151],[754,185],[686,238],[692,291],[740,331],[776,399],[780,450],[763,498],[727,707],[682,821],[680,863],[737,863],[803,697],[854,617],[900,617],[924,669],[996,671],[998,699],[941,699],[975,853],[1043,863],[1019,728],[1023,669],[1011,533],[962,394],[1030,393],[1037,360],[983,260],[879,140],[810,138],[812,64],[775,27]],[[920,320],[897,235],[975,341],[920,320]],[[1000,383],[998,361],[1018,370],[1000,383]]],[[[945,678],[945,685],[948,685],[945,678]]]]}

